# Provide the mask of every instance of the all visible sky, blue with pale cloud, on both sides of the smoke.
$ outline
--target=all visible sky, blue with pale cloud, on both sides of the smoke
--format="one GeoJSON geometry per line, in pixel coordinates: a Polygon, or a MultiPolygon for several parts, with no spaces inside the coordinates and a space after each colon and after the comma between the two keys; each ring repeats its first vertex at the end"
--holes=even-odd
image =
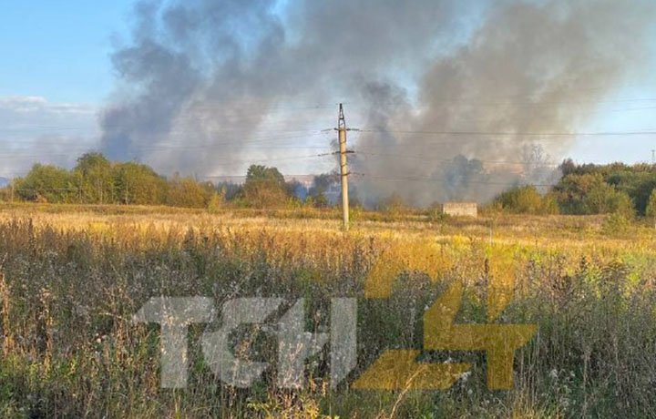
{"type": "MultiPolygon", "coordinates": [[[[0,0],[0,177],[25,174],[35,161],[71,165],[97,144],[98,112],[117,85],[110,55],[129,38],[134,3],[0,0]]],[[[612,93],[581,131],[656,131],[656,59],[644,59],[652,71],[612,93]]],[[[325,112],[322,124],[334,119],[325,112]]],[[[355,126],[358,117],[351,114],[355,126]]],[[[584,136],[567,157],[633,163],[651,160],[652,148],[656,135],[584,136]]]]}

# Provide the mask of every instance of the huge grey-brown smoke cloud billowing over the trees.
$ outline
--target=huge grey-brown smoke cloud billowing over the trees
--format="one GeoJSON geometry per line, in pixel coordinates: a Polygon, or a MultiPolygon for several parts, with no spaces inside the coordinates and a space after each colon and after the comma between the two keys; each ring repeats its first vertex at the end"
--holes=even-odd
{"type": "Polygon", "coordinates": [[[373,175],[359,180],[365,198],[485,200],[553,176],[527,149],[559,158],[573,138],[512,133],[585,123],[644,66],[654,12],[652,0],[142,2],[113,56],[120,84],[102,141],[112,158],[231,173],[282,153],[262,144],[273,131],[334,123],[332,108],[272,117],[290,103],[352,102],[369,128],[352,136],[354,170],[373,175]]]}

